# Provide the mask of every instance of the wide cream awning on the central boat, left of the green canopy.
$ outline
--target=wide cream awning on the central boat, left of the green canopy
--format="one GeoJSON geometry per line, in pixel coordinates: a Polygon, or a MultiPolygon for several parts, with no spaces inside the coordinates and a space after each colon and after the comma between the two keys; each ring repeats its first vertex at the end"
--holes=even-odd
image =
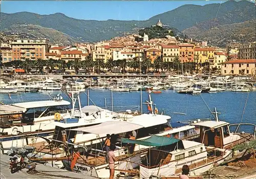
{"type": "Polygon", "coordinates": [[[143,128],[142,125],[124,122],[124,121],[106,121],[98,125],[80,127],[78,129],[71,129],[71,131],[80,131],[99,136],[106,134],[120,134],[143,128]]]}

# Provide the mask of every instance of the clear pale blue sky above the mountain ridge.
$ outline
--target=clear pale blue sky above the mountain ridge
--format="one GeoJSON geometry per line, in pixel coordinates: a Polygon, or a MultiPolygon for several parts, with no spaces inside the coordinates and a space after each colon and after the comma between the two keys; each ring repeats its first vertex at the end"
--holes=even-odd
{"type": "Polygon", "coordinates": [[[1,1],[1,12],[63,13],[84,20],[147,20],[186,4],[206,5],[225,1],[1,1]]]}

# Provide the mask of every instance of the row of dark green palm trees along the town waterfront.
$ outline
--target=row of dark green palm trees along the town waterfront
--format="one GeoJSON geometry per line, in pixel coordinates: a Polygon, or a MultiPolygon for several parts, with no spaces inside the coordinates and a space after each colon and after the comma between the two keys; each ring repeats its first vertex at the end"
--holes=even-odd
{"type": "Polygon", "coordinates": [[[42,72],[43,69],[48,69],[50,73],[52,73],[55,69],[61,70],[65,72],[67,69],[75,70],[76,74],[79,73],[79,70],[83,69],[87,73],[100,73],[101,69],[107,69],[108,71],[112,71],[113,69],[119,69],[122,73],[125,73],[127,68],[129,71],[141,72],[142,74],[146,74],[148,71],[159,72],[161,71],[178,71],[181,72],[183,67],[183,72],[185,71],[193,71],[196,70],[196,63],[187,62],[181,65],[181,61],[179,57],[175,57],[172,62],[164,62],[161,57],[157,57],[156,60],[152,63],[150,58],[142,57],[142,60],[139,61],[138,57],[133,58],[133,60],[113,60],[113,58],[108,59],[106,63],[104,63],[103,59],[95,59],[93,61],[92,56],[89,55],[85,60],[70,60],[66,62],[65,60],[31,60],[25,59],[24,61],[15,60],[3,63],[5,67],[15,67],[15,68],[23,68],[26,73],[30,72],[31,69],[38,69],[39,72],[42,72]]]}

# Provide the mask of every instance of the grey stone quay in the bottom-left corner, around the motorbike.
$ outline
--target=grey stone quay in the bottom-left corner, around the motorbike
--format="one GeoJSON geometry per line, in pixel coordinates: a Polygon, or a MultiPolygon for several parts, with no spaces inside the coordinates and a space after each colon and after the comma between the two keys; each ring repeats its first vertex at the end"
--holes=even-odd
{"type": "Polygon", "coordinates": [[[28,169],[24,168],[18,172],[11,174],[10,172],[10,156],[6,156],[0,154],[1,165],[0,165],[0,178],[7,179],[7,178],[72,178],[72,179],[95,179],[95,177],[85,176],[80,173],[71,172],[67,170],[62,170],[58,168],[53,168],[51,166],[36,164],[35,171],[30,171],[28,173],[28,169]]]}

